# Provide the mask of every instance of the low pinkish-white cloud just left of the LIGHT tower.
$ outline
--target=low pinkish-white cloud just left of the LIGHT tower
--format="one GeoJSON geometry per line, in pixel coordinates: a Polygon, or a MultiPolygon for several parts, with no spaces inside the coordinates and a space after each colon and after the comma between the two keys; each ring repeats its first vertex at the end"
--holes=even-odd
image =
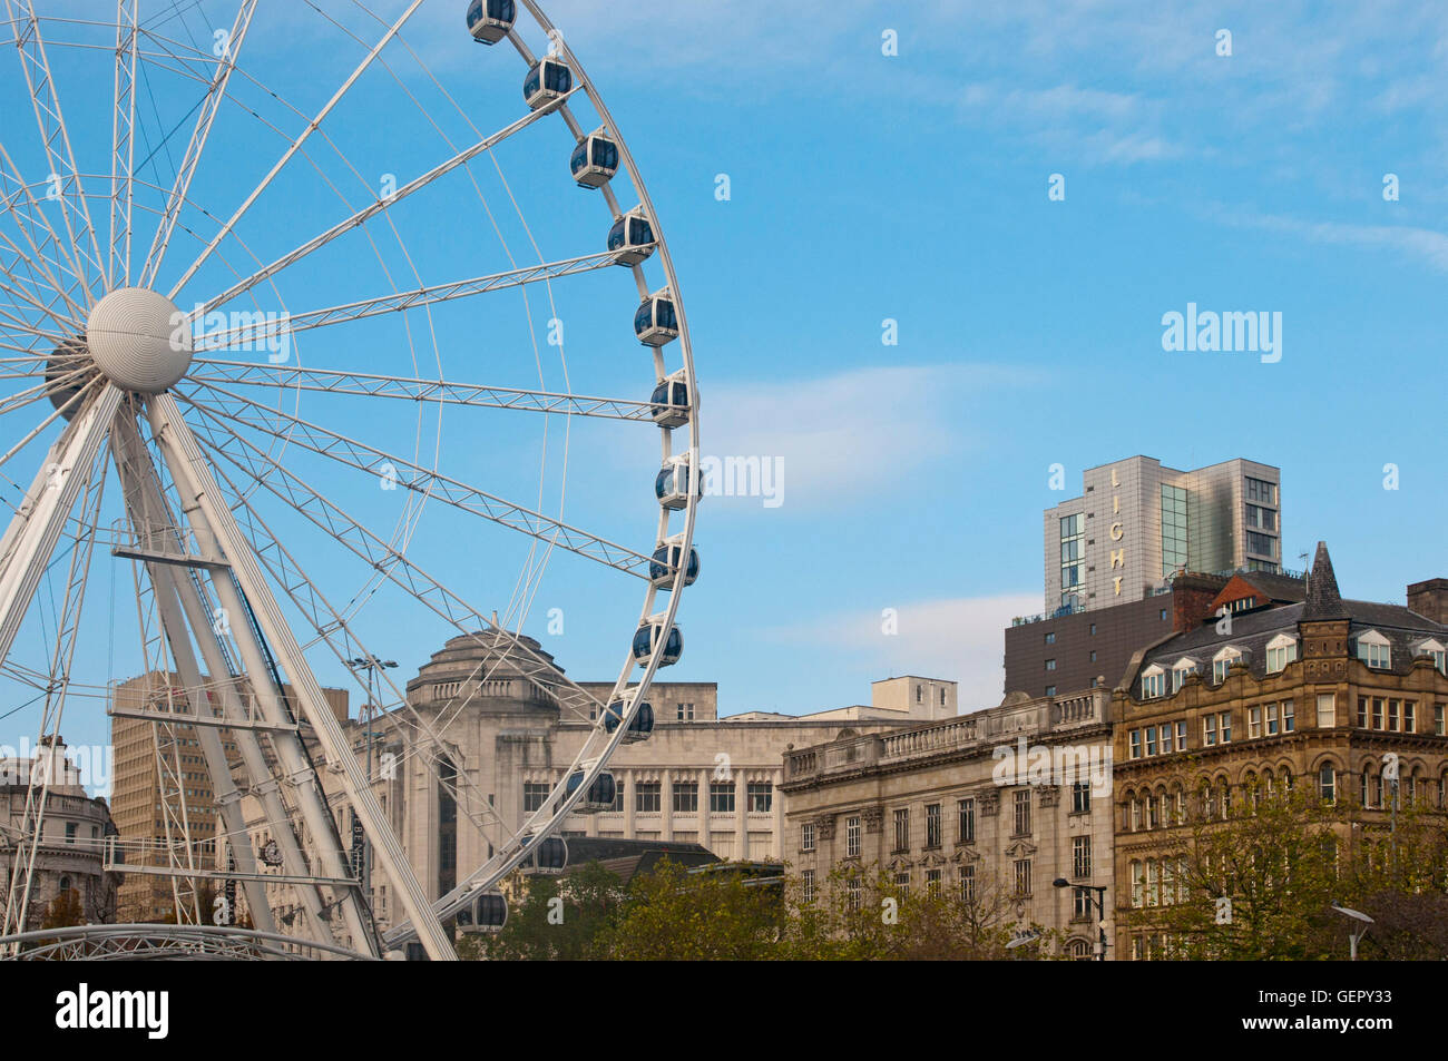
{"type": "Polygon", "coordinates": [[[1040,593],[892,602],[824,615],[770,631],[785,641],[828,646],[882,677],[921,675],[960,682],[963,712],[1001,702],[1002,631],[1016,615],[1040,611],[1040,593]],[[898,633],[882,630],[882,609],[895,608],[898,633]]]}

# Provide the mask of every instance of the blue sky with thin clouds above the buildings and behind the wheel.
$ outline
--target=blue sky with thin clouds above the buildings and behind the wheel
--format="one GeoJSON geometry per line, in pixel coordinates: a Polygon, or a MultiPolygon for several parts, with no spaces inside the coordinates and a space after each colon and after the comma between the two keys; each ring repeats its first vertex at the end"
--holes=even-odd
{"type": "MultiPolygon", "coordinates": [[[[311,12],[266,7],[275,20],[258,16],[242,67],[314,111],[361,52],[311,12]]],[[[375,23],[343,7],[339,22],[376,36],[375,23]]],[[[376,4],[384,14],[400,7],[376,4]]],[[[427,3],[404,36],[491,132],[524,113],[523,68],[511,52],[466,39],[463,7],[427,3]]],[[[1400,601],[1406,582],[1448,575],[1429,405],[1441,389],[1448,278],[1448,13],[1393,3],[1006,12],[850,0],[773,6],[767,17],[663,0],[627,10],[557,0],[549,10],[659,208],[694,337],[704,453],[783,469],[779,507],[701,507],[704,573],[681,611],[685,659],[665,676],[717,680],[725,714],[862,702],[872,679],[892,673],[959,679],[964,709],[998,702],[1001,630],[1043,604],[1040,512],[1064,496],[1048,489],[1053,463],[1072,494],[1083,468],[1135,453],[1176,468],[1235,456],[1279,465],[1289,565],[1326,540],[1344,592],[1384,601],[1400,601]],[[1218,55],[1222,29],[1229,56],[1218,55]],[[882,54],[888,30],[898,55],[882,54]],[[720,174],[727,201],[715,197],[720,174]],[[1064,200],[1047,195],[1053,174],[1064,200]],[[1396,201],[1383,194],[1387,174],[1396,201]],[[1281,360],[1163,350],[1163,314],[1189,303],[1281,313],[1281,360]],[[886,318],[898,344],[882,343],[886,318]],[[1399,469],[1393,491],[1383,488],[1389,463],[1399,469]],[[896,635],[882,634],[886,608],[898,612],[896,635]]],[[[229,25],[230,6],[207,1],[191,17],[200,36],[229,25]]],[[[407,56],[392,55],[403,69],[407,56]]],[[[56,71],[62,93],[62,75],[109,91],[109,69],[83,58],[56,71]]],[[[13,62],[0,72],[7,98],[16,77],[13,62]]],[[[323,172],[340,188],[382,174],[403,182],[450,153],[443,135],[469,142],[445,97],[404,80],[416,107],[397,84],[368,78],[324,126],[356,174],[319,152],[319,169],[288,169],[275,201],[259,203],[243,239],[261,261],[346,216],[323,172]]],[[[153,130],[195,98],[178,103],[180,80],[174,91],[158,87],[153,130]]],[[[256,85],[243,91],[259,116],[300,126],[256,85]]],[[[26,117],[7,109],[7,146],[33,136],[17,127],[26,117]]],[[[71,120],[109,135],[104,107],[71,120]]],[[[213,217],[184,217],[203,239],[279,153],[258,117],[237,109],[222,122],[227,133],[193,188],[213,217]]],[[[98,168],[107,145],[91,142],[101,145],[98,168]]],[[[508,268],[481,200],[527,261],[510,194],[544,258],[601,249],[607,216],[566,179],[569,148],[556,122],[527,130],[497,152],[507,187],[491,164],[475,166],[476,188],[459,179],[400,207],[401,239],[376,229],[376,248],[361,258],[355,246],[319,255],[256,305],[300,311],[417,282],[414,272],[440,282],[508,268]]],[[[33,148],[12,151],[33,158],[33,148]]],[[[167,182],[171,169],[158,166],[156,182],[167,182]]],[[[366,201],[355,187],[348,195],[352,208],[366,201]]],[[[162,274],[171,279],[200,249],[194,237],[177,246],[162,274]]],[[[240,268],[242,249],[229,250],[240,268]]],[[[223,282],[219,266],[198,274],[182,304],[223,282]]],[[[418,372],[440,365],[466,382],[621,397],[649,386],[647,359],[627,333],[636,294],[623,271],[556,284],[553,295],[553,307],[542,291],[527,304],[450,304],[432,337],[392,318],[337,329],[340,340],[319,331],[298,337],[297,353],[326,368],[404,371],[407,347],[418,372]],[[566,375],[546,346],[539,360],[531,349],[553,314],[568,324],[566,375]]],[[[429,413],[308,401],[304,415],[339,431],[436,453],[452,475],[556,510],[562,424],[550,426],[544,452],[542,417],[472,423],[452,410],[439,426],[429,413]]],[[[654,440],[569,430],[566,518],[650,544],[654,440]]],[[[290,468],[326,482],[371,525],[397,524],[394,494],[288,453],[290,468]]],[[[473,537],[471,523],[440,508],[423,511],[408,554],[481,609],[507,611],[526,549],[473,537]]],[[[339,602],[366,585],[350,557],[277,520],[339,602]]],[[[139,666],[127,648],[135,620],[107,596],[114,579],[125,599],[130,573],[100,559],[106,592],[87,612],[80,664],[96,685],[139,666]]],[[[555,554],[523,625],[569,673],[611,679],[641,593],[594,567],[555,554]],[[550,606],[563,609],[562,635],[547,633],[550,606]]],[[[368,599],[359,630],[403,663],[400,675],[449,633],[395,596],[368,599]]],[[[30,637],[32,648],[43,644],[43,631],[30,637]]],[[[345,677],[324,654],[316,666],[324,682],[345,677]]],[[[0,721],[0,740],[33,731],[32,715],[0,721]]],[[[72,743],[103,740],[104,719],[91,711],[62,731],[72,743]]]]}

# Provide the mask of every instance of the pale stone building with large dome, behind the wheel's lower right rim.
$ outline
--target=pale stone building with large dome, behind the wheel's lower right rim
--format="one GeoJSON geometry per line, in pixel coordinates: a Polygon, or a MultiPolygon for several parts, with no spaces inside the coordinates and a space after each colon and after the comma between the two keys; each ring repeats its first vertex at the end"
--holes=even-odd
{"type": "MultiPolygon", "coordinates": [[[[520,640],[534,659],[562,673],[537,641],[520,640]]],[[[521,827],[563,779],[595,725],[562,711],[504,641],[511,643],[511,635],[450,638],[405,686],[411,709],[443,734],[446,763],[439,766],[456,776],[452,787],[466,789],[487,808],[475,815],[488,819],[485,828],[473,828],[455,793],[439,785],[427,761],[432,753],[426,741],[416,740],[408,711],[382,714],[369,727],[378,800],[429,899],[452,890],[491,857],[495,841],[521,827]]],[[[579,685],[601,701],[613,692],[611,682],[579,685]]],[[[608,761],[618,789],[614,809],[571,815],[562,834],[701,844],[723,860],[770,861],[783,851],[776,790],[788,748],[830,740],[846,725],[882,732],[938,718],[941,711],[953,714],[956,685],[914,676],[889,679],[875,683],[870,705],[801,717],[747,712],[720,718],[714,682],[656,679],[647,699],[656,718],[652,737],[621,744],[608,761]]],[[[369,754],[365,734],[359,721],[349,722],[359,763],[369,754]]],[[[343,809],[333,772],[321,776],[337,806],[339,832],[346,837],[350,812],[343,809]]],[[[246,798],[243,808],[253,844],[264,850],[269,835],[255,800],[246,798]]],[[[269,890],[285,931],[297,912],[291,890],[284,884],[269,890]]],[[[372,880],[372,906],[384,928],[400,916],[381,873],[372,880]]]]}

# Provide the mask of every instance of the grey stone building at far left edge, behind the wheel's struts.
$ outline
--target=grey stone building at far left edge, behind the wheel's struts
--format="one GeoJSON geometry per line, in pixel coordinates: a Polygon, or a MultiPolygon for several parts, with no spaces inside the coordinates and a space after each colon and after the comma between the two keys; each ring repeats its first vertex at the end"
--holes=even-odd
{"type": "Polygon", "coordinates": [[[25,929],[41,928],[51,903],[65,892],[74,892],[84,923],[116,922],[120,874],[107,871],[104,858],[116,827],[106,800],[85,795],[80,770],[65,757],[59,738],[38,748],[33,758],[0,758],[0,910],[10,889],[16,842],[30,832],[25,808],[32,774],[38,785],[48,774],[49,790],[25,929]]]}

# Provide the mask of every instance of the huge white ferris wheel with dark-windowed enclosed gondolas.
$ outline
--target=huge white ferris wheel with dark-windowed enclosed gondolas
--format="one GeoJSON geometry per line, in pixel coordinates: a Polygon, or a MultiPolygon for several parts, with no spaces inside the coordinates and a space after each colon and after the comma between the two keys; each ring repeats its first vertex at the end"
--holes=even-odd
{"type": "MultiPolygon", "coordinates": [[[[682,651],[698,389],[653,203],[531,0],[98,6],[0,10],[0,680],[33,693],[38,747],[77,714],[151,725],[164,857],[145,870],[178,925],[65,929],[64,952],[148,951],[129,932],[281,955],[284,880],[307,954],[453,958],[452,925],[500,925],[504,876],[556,868],[565,818],[613,805],[608,758],[649,737],[646,692],[682,651]],[[569,644],[620,650],[610,695],[523,635],[550,583],[576,601],[569,644]],[[439,634],[487,646],[479,680],[505,663],[589,725],[521,824],[450,758],[466,705],[418,712],[387,673],[395,638],[439,634]],[[117,706],[127,673],[164,688],[117,706]],[[443,893],[327,675],[408,731],[411,766],[487,837],[443,893]],[[214,806],[188,803],[195,773],[214,806]],[[339,809],[391,884],[385,928],[339,809]],[[207,815],[220,866],[195,851],[207,815]],[[201,909],[209,882],[240,889],[251,935],[201,909]]],[[[0,834],[3,952],[35,935],[49,782],[0,834]]],[[[104,857],[140,870],[126,842],[104,857]]]]}

